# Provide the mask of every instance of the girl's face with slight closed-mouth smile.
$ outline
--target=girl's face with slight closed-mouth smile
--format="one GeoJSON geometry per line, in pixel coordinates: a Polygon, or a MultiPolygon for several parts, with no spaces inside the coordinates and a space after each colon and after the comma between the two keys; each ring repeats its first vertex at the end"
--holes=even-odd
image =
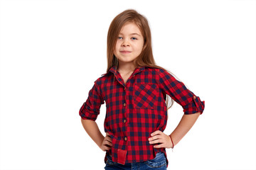
{"type": "Polygon", "coordinates": [[[135,23],[125,23],[117,38],[114,55],[119,64],[132,63],[140,53],[144,45],[144,38],[139,27],[135,23]]]}

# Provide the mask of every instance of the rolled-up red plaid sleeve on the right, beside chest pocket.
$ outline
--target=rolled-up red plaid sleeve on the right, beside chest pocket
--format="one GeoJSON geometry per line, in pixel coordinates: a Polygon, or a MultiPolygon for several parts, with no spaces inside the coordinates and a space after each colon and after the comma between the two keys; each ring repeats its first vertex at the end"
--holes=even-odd
{"type": "Polygon", "coordinates": [[[184,114],[203,113],[205,101],[188,90],[183,82],[175,79],[169,72],[159,69],[159,87],[182,106],[184,114]]]}

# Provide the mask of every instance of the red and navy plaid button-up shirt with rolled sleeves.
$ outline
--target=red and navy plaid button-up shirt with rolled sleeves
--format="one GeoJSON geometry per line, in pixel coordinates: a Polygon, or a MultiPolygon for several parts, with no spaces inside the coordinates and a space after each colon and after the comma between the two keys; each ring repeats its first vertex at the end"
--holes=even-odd
{"type": "Polygon", "coordinates": [[[164,69],[137,67],[126,84],[115,71],[114,66],[95,81],[80,108],[81,118],[95,121],[106,102],[104,128],[112,138],[112,149],[107,152],[113,162],[144,162],[154,159],[158,152],[166,156],[165,148],[156,149],[148,140],[151,132],[166,128],[166,94],[182,106],[184,114],[202,114],[204,101],[164,69]]]}

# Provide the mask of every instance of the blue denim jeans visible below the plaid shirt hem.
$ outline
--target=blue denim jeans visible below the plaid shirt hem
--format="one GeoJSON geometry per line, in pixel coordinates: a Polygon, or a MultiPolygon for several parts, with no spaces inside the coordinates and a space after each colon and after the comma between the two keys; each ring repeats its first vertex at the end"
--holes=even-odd
{"type": "Polygon", "coordinates": [[[148,160],[146,162],[136,162],[136,163],[126,163],[118,164],[117,162],[112,162],[112,157],[107,154],[107,162],[105,169],[131,169],[131,170],[145,170],[145,169],[156,169],[156,170],[166,170],[166,157],[164,153],[159,152],[156,154],[154,159],[148,160]]]}

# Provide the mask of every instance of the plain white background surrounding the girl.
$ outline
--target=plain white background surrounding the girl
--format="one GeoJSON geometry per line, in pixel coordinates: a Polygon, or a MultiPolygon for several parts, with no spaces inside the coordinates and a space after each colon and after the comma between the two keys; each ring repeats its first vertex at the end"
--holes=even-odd
{"type": "MultiPolygon", "coordinates": [[[[167,149],[169,168],[256,169],[256,1],[1,1],[1,170],[103,169],[78,111],[107,69],[107,30],[134,8],[149,21],[156,64],[206,102],[167,149]]],[[[96,122],[103,135],[105,104],[96,122]]],[[[183,109],[169,110],[164,131],[183,109]]]]}

